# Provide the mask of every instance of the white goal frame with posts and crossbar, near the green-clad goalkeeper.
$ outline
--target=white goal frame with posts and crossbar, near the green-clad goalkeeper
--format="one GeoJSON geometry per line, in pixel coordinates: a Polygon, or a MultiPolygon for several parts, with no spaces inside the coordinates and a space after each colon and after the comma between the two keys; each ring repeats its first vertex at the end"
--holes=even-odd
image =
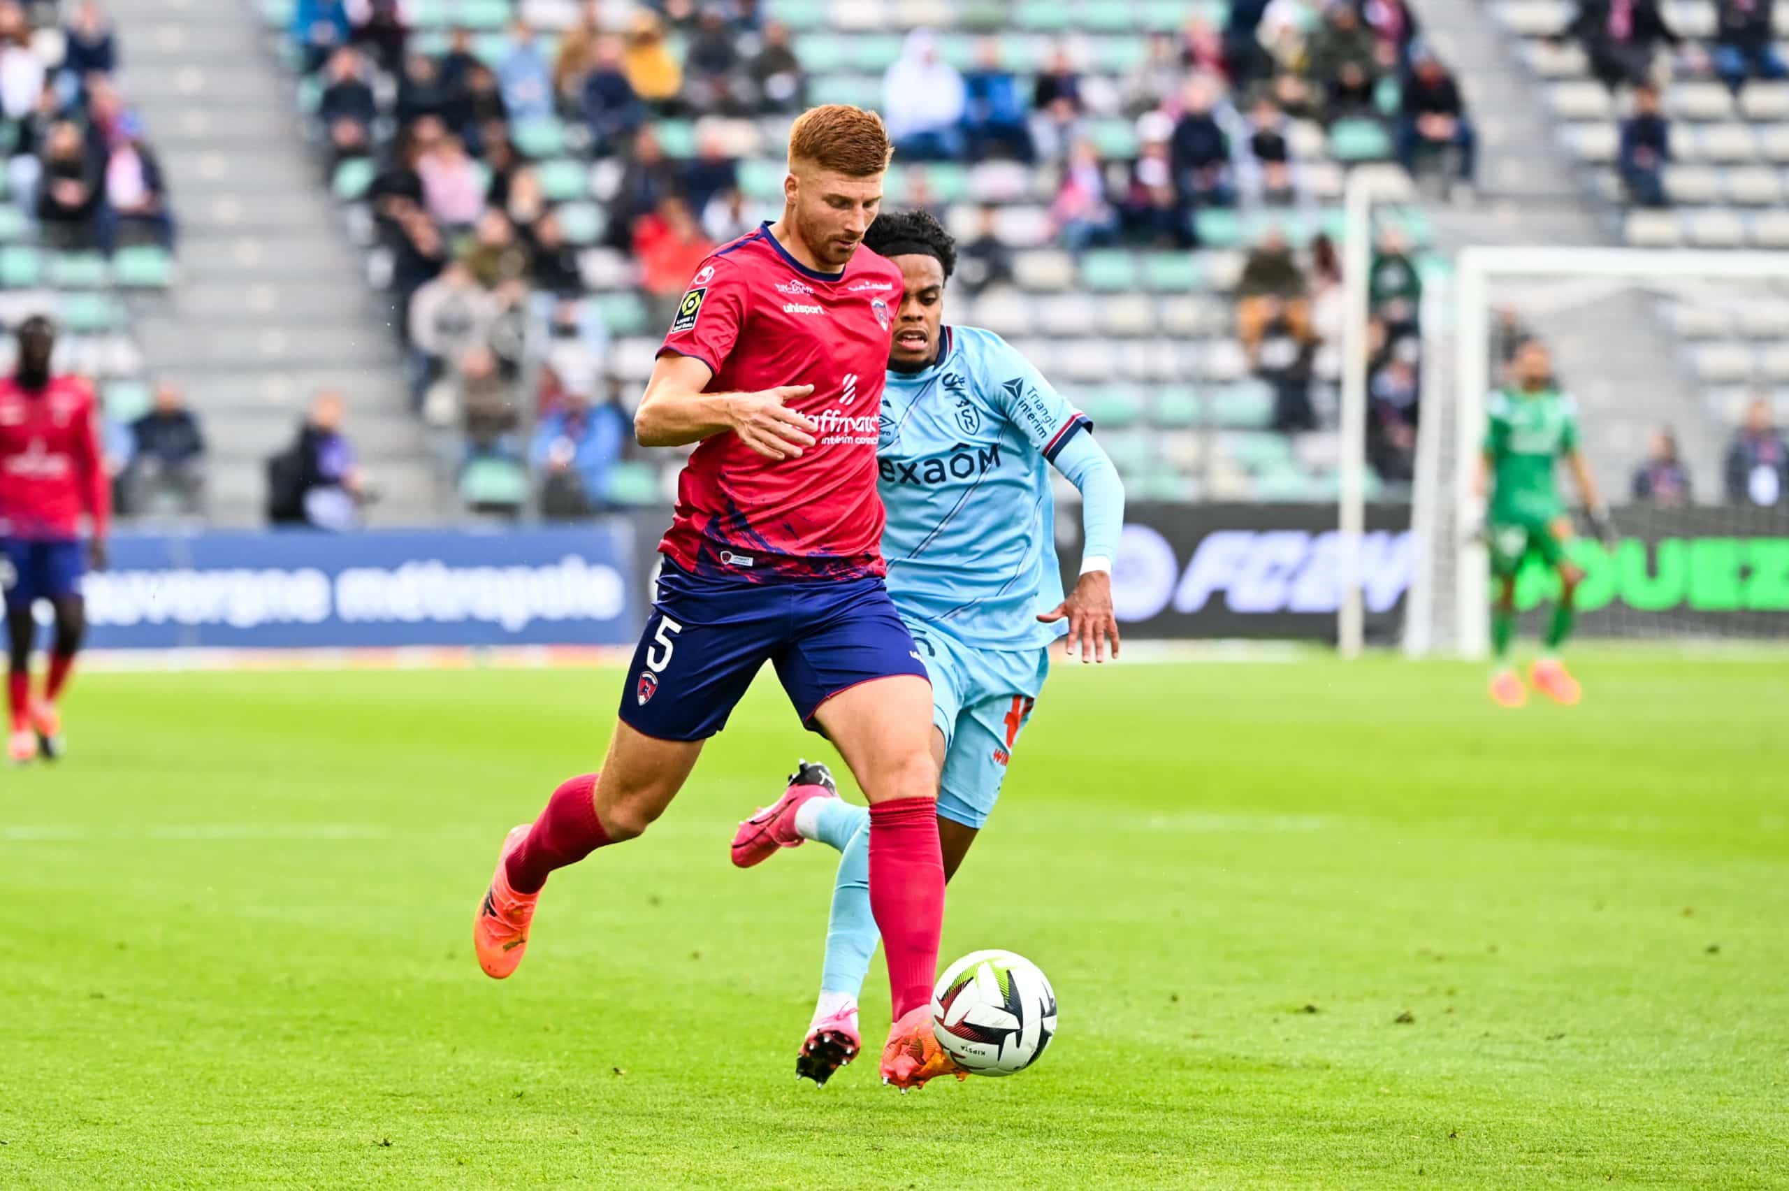
{"type": "MultiPolygon", "coordinates": [[[[1363,644],[1360,544],[1367,492],[1367,265],[1372,204],[1406,193],[1383,172],[1356,170],[1347,188],[1344,245],[1344,383],[1340,402],[1340,531],[1344,597],[1336,640],[1342,656],[1363,644]]],[[[1488,649],[1488,558],[1469,533],[1483,515],[1472,495],[1471,460],[1483,436],[1485,395],[1492,376],[1492,286],[1505,279],[1644,281],[1789,281],[1789,252],[1708,252],[1678,249],[1603,249],[1560,245],[1474,245],[1454,258],[1451,284],[1426,284],[1422,297],[1422,410],[1417,426],[1412,536],[1417,560],[1406,597],[1404,651],[1446,651],[1478,658],[1488,649]],[[1451,300],[1447,300],[1451,290],[1451,300]],[[1449,442],[1451,440],[1451,442],[1449,442]],[[1449,449],[1451,447],[1451,449],[1449,449]],[[1447,456],[1447,458],[1444,458],[1447,456]],[[1451,551],[1453,558],[1437,558],[1451,551]],[[1451,565],[1447,565],[1451,563],[1451,565]],[[1451,583],[1442,590],[1444,565],[1451,583]],[[1437,631],[1444,626],[1446,631],[1437,631]]]]}

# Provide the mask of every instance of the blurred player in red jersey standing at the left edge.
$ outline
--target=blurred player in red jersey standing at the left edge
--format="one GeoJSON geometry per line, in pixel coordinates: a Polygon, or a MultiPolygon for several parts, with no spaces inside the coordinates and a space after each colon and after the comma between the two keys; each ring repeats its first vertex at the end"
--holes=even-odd
{"type": "Polygon", "coordinates": [[[25,764],[63,748],[55,699],[75,665],[86,633],[81,597],[84,570],[81,519],[91,528],[88,553],[106,565],[111,481],[100,454],[93,388],[73,376],[50,376],[55,329],[32,317],[18,327],[18,368],[0,379],[0,576],[5,579],[7,755],[25,764]],[[55,610],[50,671],[43,696],[30,697],[30,647],[38,635],[32,608],[55,610]]]}

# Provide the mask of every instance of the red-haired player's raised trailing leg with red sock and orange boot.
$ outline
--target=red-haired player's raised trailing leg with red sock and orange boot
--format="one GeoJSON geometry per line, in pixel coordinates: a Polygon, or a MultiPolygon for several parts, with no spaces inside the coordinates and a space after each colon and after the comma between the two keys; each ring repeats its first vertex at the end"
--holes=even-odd
{"type": "Polygon", "coordinates": [[[603,769],[562,781],[533,826],[504,837],[472,930],[485,975],[501,980],[522,962],[547,874],[642,835],[676,798],[698,756],[701,740],[657,740],[615,722],[603,769]]]}

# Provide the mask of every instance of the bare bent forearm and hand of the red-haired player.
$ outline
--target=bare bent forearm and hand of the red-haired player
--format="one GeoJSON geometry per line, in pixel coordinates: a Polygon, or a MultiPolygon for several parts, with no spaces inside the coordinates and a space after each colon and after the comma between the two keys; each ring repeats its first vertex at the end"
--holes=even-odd
{"type": "Polygon", "coordinates": [[[714,379],[694,356],[660,356],[633,411],[633,436],[642,447],[682,447],[728,431],[769,460],[800,458],[814,445],[814,422],[785,410],[812,384],[780,384],[757,393],[705,393],[714,379]]]}

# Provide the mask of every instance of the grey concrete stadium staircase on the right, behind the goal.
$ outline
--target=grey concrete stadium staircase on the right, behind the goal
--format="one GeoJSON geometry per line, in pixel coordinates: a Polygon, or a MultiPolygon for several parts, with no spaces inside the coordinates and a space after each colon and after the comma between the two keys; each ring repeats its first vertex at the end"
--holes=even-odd
{"type": "MultiPolygon", "coordinates": [[[[1615,245],[1603,204],[1585,191],[1560,150],[1553,113],[1535,88],[1519,48],[1496,21],[1496,5],[1478,0],[1417,0],[1424,36],[1460,77],[1480,136],[1483,202],[1435,215],[1447,247],[1615,245]]],[[[1565,23],[1560,16],[1558,29],[1565,23]]],[[[1517,306],[1546,302],[1547,286],[1513,288],[1517,306]]],[[[1556,293],[1556,288],[1555,288],[1556,293]]],[[[1678,427],[1680,449],[1698,474],[1712,474],[1721,436],[1685,417],[1689,376],[1651,304],[1633,293],[1599,295],[1531,317],[1530,329],[1553,347],[1560,374],[1578,399],[1585,452],[1605,492],[1639,463],[1644,433],[1678,427]]],[[[1619,495],[1621,488],[1614,488],[1619,495]]]]}

